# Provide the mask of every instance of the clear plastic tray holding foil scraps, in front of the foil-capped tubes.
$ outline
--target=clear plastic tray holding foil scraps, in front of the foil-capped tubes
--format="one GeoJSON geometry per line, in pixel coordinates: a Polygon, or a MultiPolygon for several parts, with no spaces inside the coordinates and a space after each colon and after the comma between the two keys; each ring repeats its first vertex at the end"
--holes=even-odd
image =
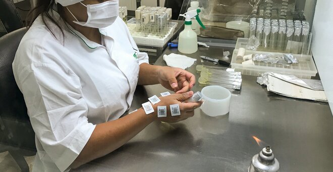
{"type": "MultiPolygon", "coordinates": [[[[311,79],[312,76],[317,74],[317,68],[313,61],[312,55],[294,55],[297,58],[297,64],[291,64],[289,66],[281,64],[270,64],[263,62],[254,62],[254,65],[240,64],[236,62],[238,49],[234,50],[233,57],[231,60],[231,67],[235,68],[235,71],[242,72],[245,75],[259,76],[260,73],[264,72],[275,72],[282,74],[292,74],[299,78],[311,79]]],[[[282,54],[272,52],[260,52],[260,51],[249,51],[245,52],[245,55],[249,54],[282,54]]]]}

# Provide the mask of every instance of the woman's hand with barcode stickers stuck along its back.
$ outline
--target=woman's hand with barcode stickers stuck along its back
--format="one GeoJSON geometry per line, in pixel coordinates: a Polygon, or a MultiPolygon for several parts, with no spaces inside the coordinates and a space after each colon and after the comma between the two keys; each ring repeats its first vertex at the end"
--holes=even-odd
{"type": "Polygon", "coordinates": [[[161,100],[157,104],[153,105],[155,120],[163,122],[179,122],[185,120],[194,115],[194,109],[201,106],[202,102],[185,103],[186,100],[193,96],[193,92],[186,92],[182,94],[172,94],[165,97],[159,97],[161,100]],[[170,105],[179,104],[180,114],[179,116],[171,116],[170,105]],[[157,106],[167,106],[167,117],[157,117],[157,106]]]}

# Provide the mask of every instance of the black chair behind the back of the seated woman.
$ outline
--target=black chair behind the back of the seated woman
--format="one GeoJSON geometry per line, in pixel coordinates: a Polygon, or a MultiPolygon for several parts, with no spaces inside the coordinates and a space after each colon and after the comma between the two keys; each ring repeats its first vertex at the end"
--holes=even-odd
{"type": "Polygon", "coordinates": [[[26,31],[21,28],[0,38],[0,152],[9,151],[22,171],[29,171],[23,156],[36,153],[35,134],[12,68],[26,31]]]}

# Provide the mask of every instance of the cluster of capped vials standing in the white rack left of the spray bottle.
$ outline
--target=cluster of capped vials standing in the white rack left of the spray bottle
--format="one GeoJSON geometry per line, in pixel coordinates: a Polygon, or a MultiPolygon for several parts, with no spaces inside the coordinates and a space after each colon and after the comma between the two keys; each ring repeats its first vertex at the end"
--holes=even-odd
{"type": "Polygon", "coordinates": [[[164,37],[171,28],[172,9],[141,6],[135,10],[136,31],[164,37]]]}

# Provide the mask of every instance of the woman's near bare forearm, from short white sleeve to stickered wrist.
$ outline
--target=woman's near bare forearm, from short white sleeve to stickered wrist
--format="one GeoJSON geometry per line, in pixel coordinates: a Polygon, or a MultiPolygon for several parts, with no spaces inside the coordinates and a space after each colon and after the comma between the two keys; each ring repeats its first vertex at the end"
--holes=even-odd
{"type": "Polygon", "coordinates": [[[140,108],[120,119],[97,124],[87,144],[71,164],[71,167],[79,167],[116,150],[152,121],[154,121],[154,115],[146,115],[144,110],[140,108]]]}

